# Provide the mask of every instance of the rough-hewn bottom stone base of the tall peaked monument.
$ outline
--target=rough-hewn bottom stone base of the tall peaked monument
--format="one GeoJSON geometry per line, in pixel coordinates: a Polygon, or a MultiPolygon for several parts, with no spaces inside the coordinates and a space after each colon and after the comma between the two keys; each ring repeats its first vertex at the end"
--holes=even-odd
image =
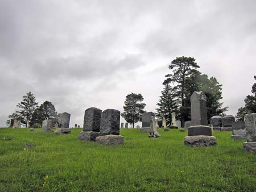
{"type": "Polygon", "coordinates": [[[208,147],[216,145],[216,137],[208,135],[197,135],[184,137],[184,144],[191,147],[208,147]]]}

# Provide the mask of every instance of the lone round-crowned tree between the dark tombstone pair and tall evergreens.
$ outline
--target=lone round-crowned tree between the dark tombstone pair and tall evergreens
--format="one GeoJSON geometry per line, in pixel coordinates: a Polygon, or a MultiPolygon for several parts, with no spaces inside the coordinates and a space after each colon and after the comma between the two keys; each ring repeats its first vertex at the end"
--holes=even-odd
{"type": "Polygon", "coordinates": [[[142,121],[142,114],[144,111],[145,103],[142,103],[143,97],[141,94],[131,93],[126,95],[125,106],[123,106],[124,112],[121,116],[127,123],[133,124],[142,121]]]}

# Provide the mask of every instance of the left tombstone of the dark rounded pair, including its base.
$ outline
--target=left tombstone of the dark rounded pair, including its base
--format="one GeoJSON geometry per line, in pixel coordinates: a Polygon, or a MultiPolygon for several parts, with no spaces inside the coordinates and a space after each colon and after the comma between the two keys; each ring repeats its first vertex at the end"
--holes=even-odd
{"type": "Polygon", "coordinates": [[[80,140],[95,141],[100,136],[101,110],[90,107],[84,112],[84,128],[79,133],[80,140]]]}

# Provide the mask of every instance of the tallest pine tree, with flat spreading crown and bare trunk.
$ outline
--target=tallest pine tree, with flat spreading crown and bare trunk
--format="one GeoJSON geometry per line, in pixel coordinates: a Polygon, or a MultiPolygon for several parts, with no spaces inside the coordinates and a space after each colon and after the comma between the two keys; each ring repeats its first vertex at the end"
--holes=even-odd
{"type": "MultiPolygon", "coordinates": [[[[177,94],[181,99],[181,112],[183,111],[183,107],[185,107],[185,81],[186,78],[192,76],[197,73],[197,68],[200,68],[199,65],[195,62],[193,57],[176,57],[175,60],[171,62],[169,65],[169,69],[172,70],[172,74],[167,74],[167,79],[164,81],[166,83],[172,83],[175,86],[175,90],[177,90],[177,94]]],[[[181,123],[184,125],[184,115],[181,114],[181,123]]]]}

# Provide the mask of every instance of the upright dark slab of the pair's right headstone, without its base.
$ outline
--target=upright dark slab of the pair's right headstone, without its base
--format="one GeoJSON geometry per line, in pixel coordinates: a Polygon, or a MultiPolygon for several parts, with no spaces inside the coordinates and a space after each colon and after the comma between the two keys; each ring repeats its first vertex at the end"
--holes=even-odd
{"type": "Polygon", "coordinates": [[[101,114],[101,135],[119,135],[120,111],[107,109],[101,114]]]}

